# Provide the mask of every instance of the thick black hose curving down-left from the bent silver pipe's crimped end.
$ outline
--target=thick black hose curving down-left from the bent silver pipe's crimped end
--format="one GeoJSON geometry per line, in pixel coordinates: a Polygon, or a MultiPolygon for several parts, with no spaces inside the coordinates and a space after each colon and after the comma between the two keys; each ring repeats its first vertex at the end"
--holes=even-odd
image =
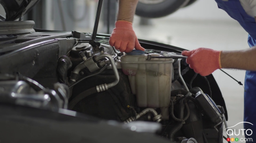
{"type": "Polygon", "coordinates": [[[69,104],[68,104],[68,109],[69,109],[69,110],[72,110],[73,107],[75,107],[75,105],[76,105],[79,101],[81,101],[81,100],[84,99],[85,97],[88,97],[88,96],[90,96],[90,95],[92,95],[92,94],[94,94],[94,93],[97,93],[96,87],[87,89],[87,90],[85,90],[84,92],[78,94],[75,98],[72,99],[71,102],[69,102],[69,104]]]}

